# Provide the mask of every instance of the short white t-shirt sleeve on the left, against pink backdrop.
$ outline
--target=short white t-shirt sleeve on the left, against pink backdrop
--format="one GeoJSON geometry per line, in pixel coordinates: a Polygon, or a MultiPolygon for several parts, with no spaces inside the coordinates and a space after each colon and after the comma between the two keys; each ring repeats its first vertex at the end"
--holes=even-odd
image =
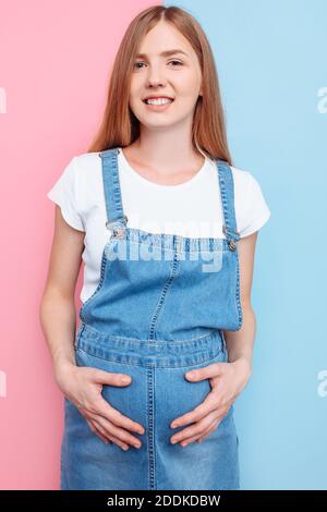
{"type": "Polygon", "coordinates": [[[60,206],[62,217],[72,228],[85,231],[83,216],[78,207],[78,195],[81,192],[77,186],[76,171],[76,157],[73,157],[52,188],[47,193],[47,196],[60,206]]]}

